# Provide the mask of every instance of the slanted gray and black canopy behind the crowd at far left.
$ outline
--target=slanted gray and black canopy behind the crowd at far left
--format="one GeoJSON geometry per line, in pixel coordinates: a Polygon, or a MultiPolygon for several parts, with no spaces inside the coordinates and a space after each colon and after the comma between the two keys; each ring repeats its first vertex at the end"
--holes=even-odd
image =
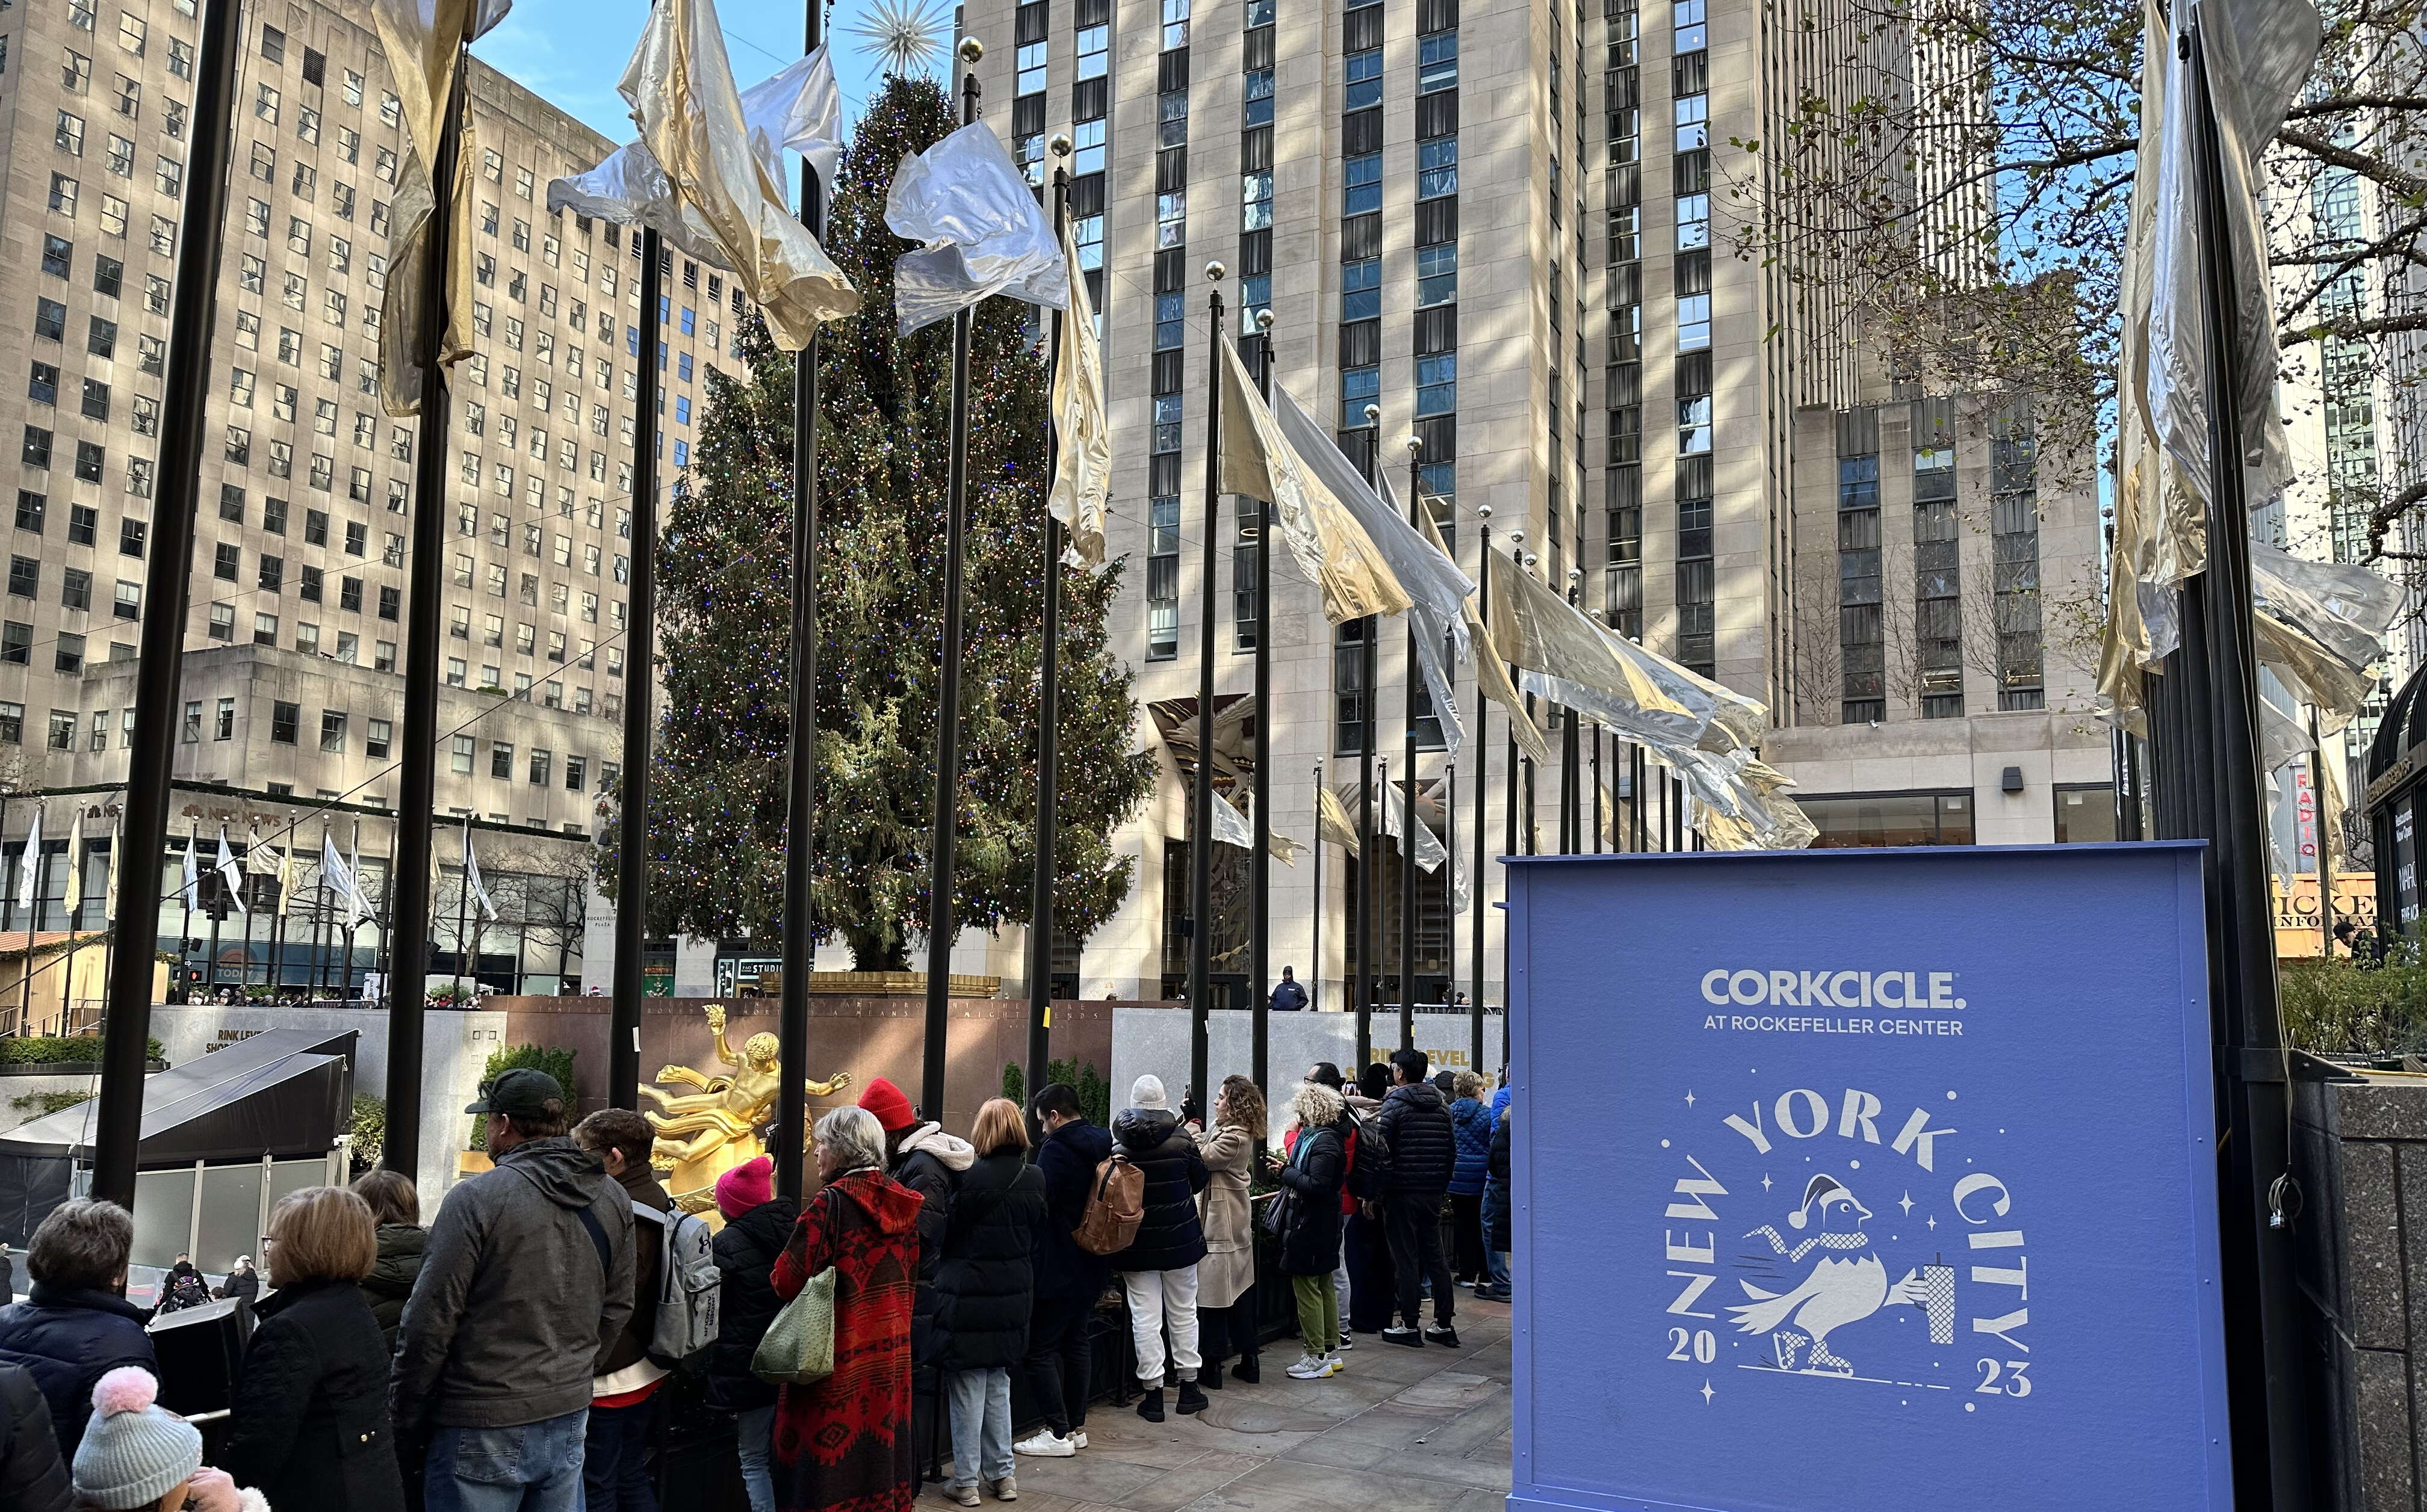
{"type": "MultiPolygon", "coordinates": [[[[354,1031],[269,1029],[143,1082],[141,1170],[328,1158],[354,1107],[354,1031]]],[[[100,1099],[0,1133],[0,1240],[80,1189],[100,1099]]]]}

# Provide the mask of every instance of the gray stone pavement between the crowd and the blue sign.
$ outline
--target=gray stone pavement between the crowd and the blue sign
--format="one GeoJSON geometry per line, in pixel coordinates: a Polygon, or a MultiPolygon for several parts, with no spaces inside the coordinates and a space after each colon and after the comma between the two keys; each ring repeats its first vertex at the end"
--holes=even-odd
{"type": "MultiPolygon", "coordinates": [[[[1459,1347],[1357,1335],[1349,1369],[1291,1381],[1294,1340],[1257,1386],[1223,1381],[1194,1417],[1087,1410],[1087,1449],[1019,1459],[1019,1512],[1500,1512],[1510,1490],[1510,1308],[1459,1296],[1459,1347]],[[1376,1483],[1383,1471],[1388,1483],[1376,1483]]],[[[1170,1403],[1170,1398],[1165,1398],[1170,1403]]],[[[934,1488],[922,1505],[944,1505],[934,1488]]],[[[995,1505],[988,1500],[988,1505],[995,1505]]]]}

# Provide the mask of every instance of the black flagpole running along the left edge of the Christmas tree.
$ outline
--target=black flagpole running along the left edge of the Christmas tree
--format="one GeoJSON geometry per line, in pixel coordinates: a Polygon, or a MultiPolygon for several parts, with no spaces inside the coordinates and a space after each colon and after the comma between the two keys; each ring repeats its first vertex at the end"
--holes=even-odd
{"type": "MultiPolygon", "coordinates": [[[[607,1107],[641,1102],[641,951],[648,939],[648,738],[658,699],[658,289],[665,245],[641,233],[641,425],[631,468],[631,629],[624,631],[633,677],[624,699],[624,806],[616,813],[614,1014],[607,1029],[607,1107]]],[[[789,891],[789,888],[786,888],[789,891]]],[[[789,903],[789,898],[786,898],[789,903]]],[[[786,910],[789,913],[789,910],[786,910]]],[[[786,917],[786,922],[791,922],[786,917]]],[[[791,976],[786,971],[786,976],[791,976]]]]}

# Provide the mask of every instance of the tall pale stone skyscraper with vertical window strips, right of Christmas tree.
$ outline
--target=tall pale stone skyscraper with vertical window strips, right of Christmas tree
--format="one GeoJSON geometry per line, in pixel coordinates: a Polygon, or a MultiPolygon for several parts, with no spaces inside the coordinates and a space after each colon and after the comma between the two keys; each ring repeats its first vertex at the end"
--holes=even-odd
{"type": "MultiPolygon", "coordinates": [[[[1398,626],[1366,687],[1364,626],[1328,626],[1286,563],[1272,624],[1255,624],[1243,546],[1257,505],[1204,512],[1209,262],[1228,272],[1221,340],[1252,369],[1267,340],[1255,316],[1269,308],[1274,381],[1325,415],[1352,459],[1374,454],[1403,500],[1420,493],[1468,573],[1480,524],[1495,551],[1524,532],[1553,587],[1767,701],[1779,728],[1764,760],[1801,779],[1825,845],[2109,832],[2107,740],[2087,716],[2087,449],[2039,434],[2029,396],[1883,371],[1845,286],[1735,248],[1747,214],[1774,214],[1781,182],[1755,143],[1784,136],[1803,90],[1893,78],[1893,39],[1845,44],[1857,29],[1752,0],[1604,5],[964,5],[961,29],[988,49],[988,119],[1031,177],[1046,184],[1058,165],[1051,136],[1075,146],[1070,216],[1114,422],[1109,548],[1131,573],[1114,643],[1141,665],[1141,740],[1175,735],[1160,745],[1163,791],[1124,837],[1141,888],[1080,951],[1085,995],[1170,995],[1184,968],[1182,779],[1209,609],[1226,706],[1247,694],[1255,641],[1269,636],[1272,709],[1252,723],[1230,711],[1240,735],[1221,764],[1250,760],[1245,731],[1269,728],[1279,832],[1315,840],[1318,762],[1357,806],[1366,699],[1386,757],[1415,716],[1420,811],[1451,825],[1451,757],[1422,694],[1410,706],[1398,626]],[[1226,558],[1214,585],[1199,582],[1209,529],[1226,558]]],[[[1925,231],[1954,248],[1963,223],[1956,201],[1925,231]]],[[[1468,721],[1471,709],[1463,692],[1468,721]]],[[[1497,716],[1476,735],[1456,755],[1451,849],[1473,845],[1478,760],[1493,849],[1556,835],[1558,772],[1534,774],[1539,823],[1507,825],[1497,716]]],[[[1599,772],[1614,845],[1670,823],[1658,769],[1641,801],[1607,743],[1599,772]]],[[[1590,828],[1590,796],[1582,808],[1590,828]]],[[[1245,852],[1216,857],[1226,881],[1194,927],[1214,930],[1216,983],[1238,993],[1245,852]]],[[[1376,866],[1376,968],[1396,1000],[1393,847],[1376,866]]],[[[1272,964],[1298,964],[1323,1005],[1342,1005],[1359,864],[1323,845],[1320,910],[1315,869],[1308,857],[1277,869],[1272,964]]],[[[1446,879],[1417,888],[1417,1000],[1471,973],[1446,879]]],[[[1497,896],[1495,876],[1483,883],[1476,905],[1497,896]]]]}

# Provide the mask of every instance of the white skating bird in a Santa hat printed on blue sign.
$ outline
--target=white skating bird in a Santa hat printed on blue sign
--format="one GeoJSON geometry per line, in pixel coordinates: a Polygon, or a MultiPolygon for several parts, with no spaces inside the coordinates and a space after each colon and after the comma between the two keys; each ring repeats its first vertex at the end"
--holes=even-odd
{"type": "Polygon", "coordinates": [[[1871,1238],[1862,1223],[1871,1209],[1854,1201],[1854,1194],[1830,1175],[1815,1175],[1803,1187],[1803,1206],[1786,1213],[1786,1226],[1803,1238],[1789,1243],[1772,1223],[1762,1223],[1745,1238],[1767,1240],[1769,1252],[1755,1255],[1760,1264],[1774,1269],[1801,1267],[1813,1252],[1820,1260],[1789,1291],[1764,1291],[1752,1281],[1738,1281],[1745,1306],[1730,1306],[1740,1332],[1767,1332],[1781,1371],[1852,1376],[1854,1364],[1828,1347],[1828,1335],[1847,1323],[1862,1323],[1888,1303],[1925,1306],[1925,1281],[1917,1269],[1908,1269],[1895,1284],[1888,1267],[1871,1250],[1871,1238]]]}

